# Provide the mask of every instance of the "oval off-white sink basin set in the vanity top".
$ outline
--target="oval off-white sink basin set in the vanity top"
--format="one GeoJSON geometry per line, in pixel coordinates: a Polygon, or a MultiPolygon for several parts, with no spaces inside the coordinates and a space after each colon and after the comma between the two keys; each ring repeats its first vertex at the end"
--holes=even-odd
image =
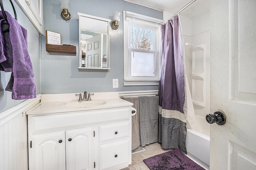
{"type": "Polygon", "coordinates": [[[100,105],[104,105],[107,102],[105,101],[75,101],[71,103],[67,103],[67,107],[72,107],[72,108],[86,108],[86,107],[97,107],[100,105]]]}

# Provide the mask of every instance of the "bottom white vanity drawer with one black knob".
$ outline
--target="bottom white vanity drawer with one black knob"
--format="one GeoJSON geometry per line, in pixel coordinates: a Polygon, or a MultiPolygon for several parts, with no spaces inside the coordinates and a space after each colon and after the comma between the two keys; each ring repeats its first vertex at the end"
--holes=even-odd
{"type": "Polygon", "coordinates": [[[107,169],[120,164],[129,164],[129,140],[121,140],[100,145],[100,169],[107,169]]]}

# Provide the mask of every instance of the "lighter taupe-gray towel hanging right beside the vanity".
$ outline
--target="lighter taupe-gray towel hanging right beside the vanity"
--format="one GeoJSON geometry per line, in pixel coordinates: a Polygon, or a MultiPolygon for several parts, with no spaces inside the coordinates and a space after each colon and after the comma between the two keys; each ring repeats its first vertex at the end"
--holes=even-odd
{"type": "Polygon", "coordinates": [[[140,107],[139,97],[125,97],[126,101],[133,103],[137,110],[136,115],[132,116],[132,150],[140,146],[140,107]]]}

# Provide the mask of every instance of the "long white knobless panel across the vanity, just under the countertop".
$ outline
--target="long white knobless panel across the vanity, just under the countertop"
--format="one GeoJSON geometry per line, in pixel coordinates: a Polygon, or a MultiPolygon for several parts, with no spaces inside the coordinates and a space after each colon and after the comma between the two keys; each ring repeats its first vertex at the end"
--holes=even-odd
{"type": "Polygon", "coordinates": [[[96,125],[106,121],[130,120],[130,108],[120,107],[95,111],[59,113],[54,115],[28,115],[28,127],[32,133],[49,131],[55,128],[68,128],[80,125],[96,125]]]}

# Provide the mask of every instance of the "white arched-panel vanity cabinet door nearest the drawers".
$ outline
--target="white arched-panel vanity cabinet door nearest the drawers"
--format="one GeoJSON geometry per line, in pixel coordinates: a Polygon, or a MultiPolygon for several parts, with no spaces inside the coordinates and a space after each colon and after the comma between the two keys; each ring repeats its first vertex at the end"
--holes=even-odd
{"type": "Polygon", "coordinates": [[[93,127],[66,130],[67,170],[92,170],[93,127]]]}

